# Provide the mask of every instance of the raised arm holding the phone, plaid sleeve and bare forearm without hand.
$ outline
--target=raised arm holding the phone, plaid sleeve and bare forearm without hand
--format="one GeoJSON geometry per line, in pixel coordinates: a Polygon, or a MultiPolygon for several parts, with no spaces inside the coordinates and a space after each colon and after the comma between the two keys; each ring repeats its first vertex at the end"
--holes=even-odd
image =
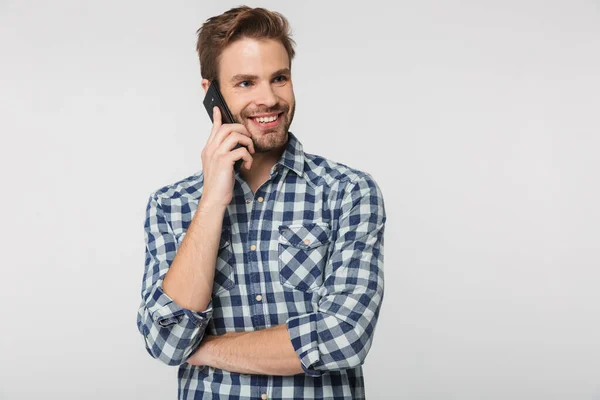
{"type": "Polygon", "coordinates": [[[209,217],[198,210],[177,251],[160,199],[152,196],[148,201],[144,223],[146,261],[137,326],[148,353],[168,365],[185,362],[198,347],[212,316],[211,273],[222,224],[222,217],[215,214],[209,217]],[[201,229],[203,235],[199,235],[201,229]],[[206,282],[209,279],[210,284],[206,282]]]}

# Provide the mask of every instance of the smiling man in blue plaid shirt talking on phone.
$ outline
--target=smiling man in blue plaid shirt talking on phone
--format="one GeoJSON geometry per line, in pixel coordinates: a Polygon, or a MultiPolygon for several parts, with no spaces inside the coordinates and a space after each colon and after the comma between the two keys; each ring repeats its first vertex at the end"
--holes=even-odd
{"type": "Polygon", "coordinates": [[[281,14],[231,9],[199,29],[197,50],[204,90],[217,80],[237,123],[215,109],[203,171],[150,196],[146,349],[179,366],[180,399],[363,399],[382,193],[288,131],[294,49],[281,14]]]}

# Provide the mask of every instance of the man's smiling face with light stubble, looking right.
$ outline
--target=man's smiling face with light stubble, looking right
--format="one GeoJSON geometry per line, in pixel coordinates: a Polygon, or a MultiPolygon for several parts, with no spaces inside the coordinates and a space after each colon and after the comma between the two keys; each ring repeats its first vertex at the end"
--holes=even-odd
{"type": "Polygon", "coordinates": [[[296,108],[289,67],[285,47],[271,39],[240,39],[221,53],[221,93],[236,121],[252,135],[257,153],[287,142],[296,108]]]}

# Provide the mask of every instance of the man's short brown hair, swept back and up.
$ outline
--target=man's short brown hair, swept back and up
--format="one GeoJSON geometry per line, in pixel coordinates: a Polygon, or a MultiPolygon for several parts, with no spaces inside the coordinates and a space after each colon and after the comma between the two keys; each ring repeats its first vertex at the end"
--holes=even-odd
{"type": "Polygon", "coordinates": [[[294,45],[287,19],[276,11],[241,6],[211,17],[198,29],[196,51],[200,58],[200,74],[209,81],[218,78],[221,53],[229,44],[242,38],[274,39],[281,42],[290,59],[294,45]]]}

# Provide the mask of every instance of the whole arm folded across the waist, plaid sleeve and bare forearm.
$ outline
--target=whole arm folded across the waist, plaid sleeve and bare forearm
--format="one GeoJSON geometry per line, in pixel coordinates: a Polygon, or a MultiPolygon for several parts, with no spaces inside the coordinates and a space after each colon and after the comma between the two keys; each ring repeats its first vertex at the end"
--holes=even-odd
{"type": "Polygon", "coordinates": [[[261,331],[207,336],[190,364],[238,373],[316,376],[364,362],[383,300],[386,217],[374,181],[351,186],[341,204],[318,311],[261,331]]]}

